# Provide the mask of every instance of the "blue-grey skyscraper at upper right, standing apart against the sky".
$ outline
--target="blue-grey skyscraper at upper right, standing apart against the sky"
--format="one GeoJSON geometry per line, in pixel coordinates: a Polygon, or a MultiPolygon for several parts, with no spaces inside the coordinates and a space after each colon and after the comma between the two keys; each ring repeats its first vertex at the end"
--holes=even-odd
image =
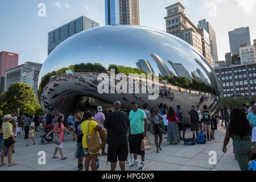
{"type": "Polygon", "coordinates": [[[242,44],[251,46],[249,27],[241,27],[229,32],[230,52],[232,52],[233,55],[239,53],[239,48],[242,44]]]}

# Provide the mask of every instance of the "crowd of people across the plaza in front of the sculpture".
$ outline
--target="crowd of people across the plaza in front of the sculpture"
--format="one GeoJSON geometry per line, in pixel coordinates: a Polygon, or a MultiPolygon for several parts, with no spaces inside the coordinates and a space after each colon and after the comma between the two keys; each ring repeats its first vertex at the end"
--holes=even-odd
{"type": "Polygon", "coordinates": [[[251,102],[250,107],[243,104],[241,109],[236,106],[229,109],[229,106],[224,105],[220,111],[216,110],[214,113],[209,111],[207,105],[203,106],[202,111],[200,107],[200,105],[192,105],[191,110],[184,113],[180,105],[174,109],[161,103],[148,111],[147,104],[139,109],[137,102],[132,102],[132,110],[125,113],[121,111],[121,102],[115,101],[113,111],[104,111],[102,106],[98,106],[97,112],[75,110],[67,118],[61,112],[55,115],[46,112],[42,116],[23,114],[18,117],[13,113],[6,114],[3,115],[0,123],[1,166],[6,165],[3,161],[5,156],[8,156],[8,166],[15,165],[11,161],[11,156],[15,152],[16,137],[21,136],[22,130],[24,130],[24,139],[28,139],[28,146],[31,140],[35,144],[36,131],[44,129],[47,125],[53,125],[54,136],[57,136],[58,142],[55,142],[56,148],[52,158],[59,158],[58,150],[62,160],[68,158],[63,154],[63,138],[66,131],[69,136],[73,135],[73,140],[76,140],[76,171],[82,171],[84,168],[88,171],[89,167],[96,171],[100,167],[99,155],[107,156],[112,171],[117,167],[117,159],[121,170],[125,170],[129,152],[134,157],[134,162],[129,167],[138,167],[139,171],[143,171],[145,152],[141,147],[142,139],[148,139],[150,133],[154,134],[156,153],[163,150],[161,147],[164,142],[163,135],[170,144],[180,144],[181,140],[186,139],[187,128],[183,119],[187,114],[193,139],[196,139],[199,133],[204,133],[208,141],[214,139],[217,123],[221,121],[221,126],[224,127],[223,122],[225,122],[226,137],[222,151],[227,151],[226,146],[232,138],[233,152],[238,164],[241,170],[247,170],[249,161],[255,158],[256,153],[255,101],[251,102]],[[35,126],[31,126],[32,122],[35,126]],[[183,131],[182,135],[181,131],[183,131]],[[106,144],[108,151],[105,151],[106,144]],[[141,163],[138,162],[138,155],[141,155],[141,163]]]}

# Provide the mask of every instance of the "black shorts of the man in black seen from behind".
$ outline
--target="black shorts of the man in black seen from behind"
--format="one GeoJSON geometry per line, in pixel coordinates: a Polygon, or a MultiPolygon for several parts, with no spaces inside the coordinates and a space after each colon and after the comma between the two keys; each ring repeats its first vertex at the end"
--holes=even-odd
{"type": "Polygon", "coordinates": [[[117,156],[119,161],[126,161],[128,157],[128,144],[123,144],[121,146],[113,146],[109,144],[108,146],[108,161],[110,163],[117,162],[117,156]]]}

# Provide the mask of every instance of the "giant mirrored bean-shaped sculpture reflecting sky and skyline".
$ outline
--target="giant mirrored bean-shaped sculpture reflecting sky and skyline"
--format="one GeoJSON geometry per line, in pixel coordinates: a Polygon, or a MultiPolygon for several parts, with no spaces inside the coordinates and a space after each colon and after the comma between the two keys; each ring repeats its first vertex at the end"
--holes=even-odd
{"type": "MultiPolygon", "coordinates": [[[[173,101],[161,96],[150,100],[150,93],[141,92],[100,93],[98,85],[106,80],[98,80],[98,76],[110,75],[108,68],[116,68],[117,73],[126,75],[154,73],[162,77],[187,77],[190,82],[197,80],[212,86],[216,92],[219,90],[217,77],[208,61],[176,36],[141,26],[102,26],[73,35],[47,57],[39,75],[38,93],[43,110],[68,114],[76,109],[96,110],[98,105],[104,110],[113,110],[116,100],[121,101],[125,111],[131,110],[133,101],[137,101],[139,107],[147,104],[147,109],[151,110],[163,103],[175,110],[180,105],[188,123],[186,113],[192,104],[199,104],[198,91],[197,94],[184,92],[184,89],[179,92],[174,85],[169,85],[174,93],[173,101]]],[[[115,78],[114,84],[118,84],[118,79],[115,78]]],[[[147,83],[137,85],[142,88],[147,83]]],[[[105,86],[110,89],[111,84],[105,86]]],[[[135,91],[133,86],[136,83],[127,85],[135,91]]],[[[217,102],[217,97],[210,95],[204,104],[213,111],[217,102]]]]}

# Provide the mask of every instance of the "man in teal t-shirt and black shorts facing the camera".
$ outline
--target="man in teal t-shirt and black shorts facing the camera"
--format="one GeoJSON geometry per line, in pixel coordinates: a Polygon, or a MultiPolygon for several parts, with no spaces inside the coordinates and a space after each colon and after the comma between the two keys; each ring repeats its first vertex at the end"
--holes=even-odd
{"type": "Polygon", "coordinates": [[[129,149],[130,154],[134,156],[134,162],[130,168],[138,166],[137,154],[141,155],[141,167],[139,171],[143,171],[145,168],[145,152],[141,151],[141,142],[147,133],[147,117],[143,110],[138,109],[136,102],[131,103],[133,110],[129,113],[130,119],[130,137],[129,137],[129,149]]]}

